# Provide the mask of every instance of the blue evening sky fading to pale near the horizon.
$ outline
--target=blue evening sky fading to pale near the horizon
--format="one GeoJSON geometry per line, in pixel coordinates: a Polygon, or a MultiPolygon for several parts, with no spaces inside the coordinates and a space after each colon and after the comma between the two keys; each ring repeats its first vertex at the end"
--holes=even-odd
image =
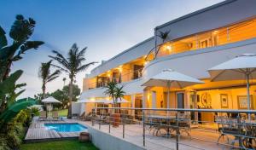
{"type": "MultiPolygon", "coordinates": [[[[203,9],[222,0],[0,0],[0,26],[9,33],[16,14],[37,21],[31,40],[44,41],[11,67],[24,71],[19,83],[26,83],[21,97],[42,93],[38,78],[41,62],[49,61],[52,50],[67,55],[73,43],[88,47],[85,63],[107,61],[125,49],[154,35],[154,27],[177,17],[203,9]]],[[[9,38],[9,43],[11,43],[9,38]]],[[[99,64],[98,64],[99,65],[99,64]]],[[[80,72],[76,84],[82,89],[83,78],[95,66],[80,72]]],[[[54,71],[55,68],[52,68],[54,71]]],[[[46,85],[53,92],[63,87],[60,78],[46,85]]],[[[68,80],[67,80],[68,82],[68,80]]]]}

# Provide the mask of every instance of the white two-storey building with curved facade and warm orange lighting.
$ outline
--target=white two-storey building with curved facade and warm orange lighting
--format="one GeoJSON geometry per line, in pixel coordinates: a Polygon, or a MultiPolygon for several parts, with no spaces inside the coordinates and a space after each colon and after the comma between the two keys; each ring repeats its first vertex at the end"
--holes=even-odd
{"type": "MultiPolygon", "coordinates": [[[[120,107],[164,108],[167,89],[141,85],[162,70],[172,68],[206,84],[172,89],[169,107],[246,109],[245,81],[211,82],[207,69],[236,55],[256,53],[255,6],[254,0],[228,0],[156,26],[154,37],[103,61],[86,75],[81,100],[108,99],[103,86],[113,79],[125,85],[125,100],[131,101],[120,107]],[[166,39],[158,36],[160,32],[168,32],[166,39]]],[[[252,85],[253,109],[255,92],[256,86],[252,85]]],[[[82,112],[88,113],[94,106],[86,103],[82,112]]],[[[210,121],[213,116],[206,113],[200,119],[210,121]]]]}

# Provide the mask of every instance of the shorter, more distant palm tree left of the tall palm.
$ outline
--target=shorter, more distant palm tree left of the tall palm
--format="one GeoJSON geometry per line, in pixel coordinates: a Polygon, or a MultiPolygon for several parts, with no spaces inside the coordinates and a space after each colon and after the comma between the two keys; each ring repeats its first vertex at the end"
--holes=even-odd
{"type": "Polygon", "coordinates": [[[52,61],[42,62],[39,68],[38,77],[42,78],[42,90],[43,90],[43,99],[45,98],[45,89],[46,84],[50,81],[53,81],[55,78],[58,78],[61,74],[60,70],[55,70],[55,72],[50,73],[50,65],[52,61]]]}

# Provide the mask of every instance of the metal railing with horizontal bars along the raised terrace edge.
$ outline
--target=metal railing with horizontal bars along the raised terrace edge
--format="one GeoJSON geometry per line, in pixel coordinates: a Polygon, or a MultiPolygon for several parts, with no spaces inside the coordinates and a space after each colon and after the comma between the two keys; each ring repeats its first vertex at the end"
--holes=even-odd
{"type": "Polygon", "coordinates": [[[90,120],[98,130],[142,147],[256,149],[255,114],[255,110],[97,107],[90,120]]]}

